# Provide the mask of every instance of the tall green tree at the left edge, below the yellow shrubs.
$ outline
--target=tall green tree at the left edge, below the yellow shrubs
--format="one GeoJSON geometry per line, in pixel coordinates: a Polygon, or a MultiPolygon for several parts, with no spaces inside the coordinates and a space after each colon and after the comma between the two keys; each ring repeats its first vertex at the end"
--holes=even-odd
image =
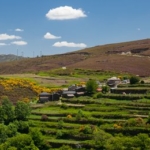
{"type": "Polygon", "coordinates": [[[9,124],[9,122],[14,120],[14,109],[13,104],[10,102],[8,97],[3,97],[2,100],[2,107],[0,109],[0,112],[2,113],[0,115],[0,120],[4,121],[5,124],[9,124]]]}

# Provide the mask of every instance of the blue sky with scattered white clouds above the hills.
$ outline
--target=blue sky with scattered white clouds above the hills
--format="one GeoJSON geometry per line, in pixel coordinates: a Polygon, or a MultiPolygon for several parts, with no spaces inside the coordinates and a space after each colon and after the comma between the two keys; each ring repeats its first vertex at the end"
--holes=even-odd
{"type": "Polygon", "coordinates": [[[148,39],[150,0],[0,0],[0,54],[54,55],[148,39]]]}

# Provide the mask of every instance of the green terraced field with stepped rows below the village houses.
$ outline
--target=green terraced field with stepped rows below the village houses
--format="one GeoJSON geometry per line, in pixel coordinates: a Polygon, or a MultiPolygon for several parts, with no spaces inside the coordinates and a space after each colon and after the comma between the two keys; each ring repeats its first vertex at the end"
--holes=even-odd
{"type": "Polygon", "coordinates": [[[149,110],[149,99],[80,97],[33,104],[29,123],[31,128],[40,128],[53,149],[63,145],[72,149],[109,149],[112,137],[149,135],[149,110]]]}

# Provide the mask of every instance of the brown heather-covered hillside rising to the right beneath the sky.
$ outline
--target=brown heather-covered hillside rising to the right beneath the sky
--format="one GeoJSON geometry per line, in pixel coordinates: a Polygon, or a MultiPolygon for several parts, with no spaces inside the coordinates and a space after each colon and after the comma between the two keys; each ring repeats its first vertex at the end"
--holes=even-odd
{"type": "Polygon", "coordinates": [[[116,71],[150,76],[150,39],[107,44],[71,53],[0,63],[0,74],[67,68],[116,71]]]}

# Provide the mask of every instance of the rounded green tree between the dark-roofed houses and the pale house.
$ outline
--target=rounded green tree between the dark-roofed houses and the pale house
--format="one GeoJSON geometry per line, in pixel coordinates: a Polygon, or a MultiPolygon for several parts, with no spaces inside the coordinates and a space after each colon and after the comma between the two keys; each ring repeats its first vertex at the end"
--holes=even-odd
{"type": "Polygon", "coordinates": [[[94,94],[96,92],[98,88],[98,84],[96,83],[95,80],[90,79],[89,81],[87,81],[86,83],[86,91],[89,94],[94,94]]]}

